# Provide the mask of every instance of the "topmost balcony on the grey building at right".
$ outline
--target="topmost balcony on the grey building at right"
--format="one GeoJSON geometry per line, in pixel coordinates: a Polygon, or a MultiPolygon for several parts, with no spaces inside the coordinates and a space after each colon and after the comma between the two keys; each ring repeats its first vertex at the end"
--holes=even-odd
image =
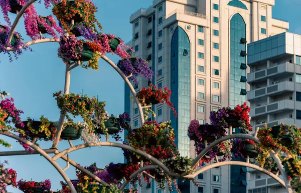
{"type": "Polygon", "coordinates": [[[280,63],[279,65],[248,73],[248,82],[262,81],[267,78],[283,76],[290,73],[294,73],[294,64],[289,62],[280,63]]]}

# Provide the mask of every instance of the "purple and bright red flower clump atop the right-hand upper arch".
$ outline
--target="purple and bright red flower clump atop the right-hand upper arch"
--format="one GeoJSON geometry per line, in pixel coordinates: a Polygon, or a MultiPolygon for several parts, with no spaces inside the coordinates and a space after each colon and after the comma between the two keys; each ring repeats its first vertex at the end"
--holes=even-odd
{"type": "Polygon", "coordinates": [[[237,104],[234,109],[231,107],[223,107],[217,111],[210,112],[210,120],[213,125],[222,128],[229,128],[228,118],[231,118],[240,123],[240,127],[246,132],[252,131],[252,126],[249,120],[250,107],[244,102],[242,105],[237,104]]]}

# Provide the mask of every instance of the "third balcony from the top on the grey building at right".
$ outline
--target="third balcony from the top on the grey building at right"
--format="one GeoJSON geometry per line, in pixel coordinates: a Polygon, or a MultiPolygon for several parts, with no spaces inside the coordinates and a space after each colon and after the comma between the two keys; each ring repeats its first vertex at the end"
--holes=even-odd
{"type": "Polygon", "coordinates": [[[256,108],[251,108],[250,116],[258,117],[267,115],[270,113],[277,113],[283,110],[293,110],[295,109],[295,102],[293,100],[280,100],[277,102],[272,102],[269,104],[261,105],[256,108]]]}

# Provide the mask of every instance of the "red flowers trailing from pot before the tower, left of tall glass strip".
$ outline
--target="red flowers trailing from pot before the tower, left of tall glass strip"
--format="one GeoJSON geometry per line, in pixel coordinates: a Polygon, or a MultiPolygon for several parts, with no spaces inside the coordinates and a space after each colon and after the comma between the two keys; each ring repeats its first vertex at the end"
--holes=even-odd
{"type": "MultiPolygon", "coordinates": [[[[147,103],[147,100],[149,100],[149,99],[156,99],[160,103],[165,103],[170,107],[170,109],[174,112],[174,115],[177,117],[176,109],[173,107],[173,103],[169,100],[171,93],[172,93],[172,91],[168,90],[167,87],[165,87],[164,90],[162,90],[162,88],[158,89],[155,85],[149,84],[148,88],[143,87],[137,93],[137,97],[142,106],[149,105],[147,103]]],[[[149,108],[148,109],[144,108],[144,109],[145,109],[146,113],[147,113],[146,110],[152,111],[149,108]]],[[[154,112],[153,112],[153,114],[154,114],[154,112]]],[[[144,115],[144,118],[147,119],[147,115],[144,115]]]]}

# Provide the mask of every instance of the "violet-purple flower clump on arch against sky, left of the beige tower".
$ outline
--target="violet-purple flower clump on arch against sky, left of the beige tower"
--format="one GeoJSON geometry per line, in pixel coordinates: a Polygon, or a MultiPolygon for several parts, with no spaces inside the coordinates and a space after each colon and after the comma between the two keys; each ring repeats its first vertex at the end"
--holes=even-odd
{"type": "Polygon", "coordinates": [[[123,58],[118,61],[117,66],[121,69],[124,75],[129,76],[129,80],[136,85],[138,81],[136,76],[144,76],[148,80],[152,80],[154,72],[148,67],[148,62],[139,57],[123,58]]]}

